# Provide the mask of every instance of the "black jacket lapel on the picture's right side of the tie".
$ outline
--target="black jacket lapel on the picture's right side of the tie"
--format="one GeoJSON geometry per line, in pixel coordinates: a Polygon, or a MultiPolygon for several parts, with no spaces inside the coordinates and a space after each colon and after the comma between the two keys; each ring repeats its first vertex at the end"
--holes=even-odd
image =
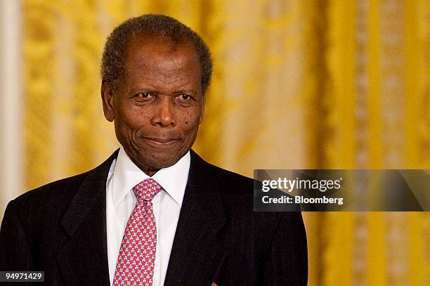
{"type": "Polygon", "coordinates": [[[216,233],[226,223],[210,165],[191,150],[188,183],[164,285],[211,285],[226,251],[216,233]]]}

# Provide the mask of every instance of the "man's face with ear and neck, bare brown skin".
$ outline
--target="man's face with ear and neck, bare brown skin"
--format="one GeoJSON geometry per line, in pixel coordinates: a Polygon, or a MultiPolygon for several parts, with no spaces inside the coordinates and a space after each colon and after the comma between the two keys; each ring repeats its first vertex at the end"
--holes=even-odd
{"type": "Polygon", "coordinates": [[[178,162],[204,115],[195,47],[164,37],[131,39],[117,89],[102,82],[103,112],[131,161],[148,176],[178,162]]]}

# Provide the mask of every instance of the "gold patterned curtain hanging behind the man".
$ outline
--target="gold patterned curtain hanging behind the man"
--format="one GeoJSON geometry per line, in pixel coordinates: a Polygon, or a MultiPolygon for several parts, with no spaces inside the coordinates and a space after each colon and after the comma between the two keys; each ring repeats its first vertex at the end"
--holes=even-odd
{"type": "MultiPolygon", "coordinates": [[[[142,13],[202,34],[214,79],[195,150],[253,169],[430,166],[427,0],[23,0],[28,189],[117,148],[107,34],[142,13]]],[[[305,213],[309,285],[430,285],[426,213],[305,213]]]]}

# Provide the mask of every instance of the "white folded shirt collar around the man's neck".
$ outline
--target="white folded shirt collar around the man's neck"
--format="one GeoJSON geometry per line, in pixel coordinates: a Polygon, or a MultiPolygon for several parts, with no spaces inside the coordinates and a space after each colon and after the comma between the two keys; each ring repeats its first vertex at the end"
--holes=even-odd
{"type": "MultiPolygon", "coordinates": [[[[180,207],[188,181],[188,171],[190,171],[190,151],[181,157],[176,164],[160,169],[152,176],[180,207]]],[[[116,206],[124,199],[134,186],[149,177],[130,160],[124,148],[121,147],[112,176],[114,205],[116,206]]]]}

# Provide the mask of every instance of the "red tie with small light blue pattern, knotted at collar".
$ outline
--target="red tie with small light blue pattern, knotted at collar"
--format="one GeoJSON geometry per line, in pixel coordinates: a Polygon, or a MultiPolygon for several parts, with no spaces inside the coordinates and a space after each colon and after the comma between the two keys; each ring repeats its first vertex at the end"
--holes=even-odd
{"type": "Polygon", "coordinates": [[[113,285],[152,285],[157,228],[151,200],[160,190],[152,178],[133,188],[137,202],[124,231],[113,285]]]}

